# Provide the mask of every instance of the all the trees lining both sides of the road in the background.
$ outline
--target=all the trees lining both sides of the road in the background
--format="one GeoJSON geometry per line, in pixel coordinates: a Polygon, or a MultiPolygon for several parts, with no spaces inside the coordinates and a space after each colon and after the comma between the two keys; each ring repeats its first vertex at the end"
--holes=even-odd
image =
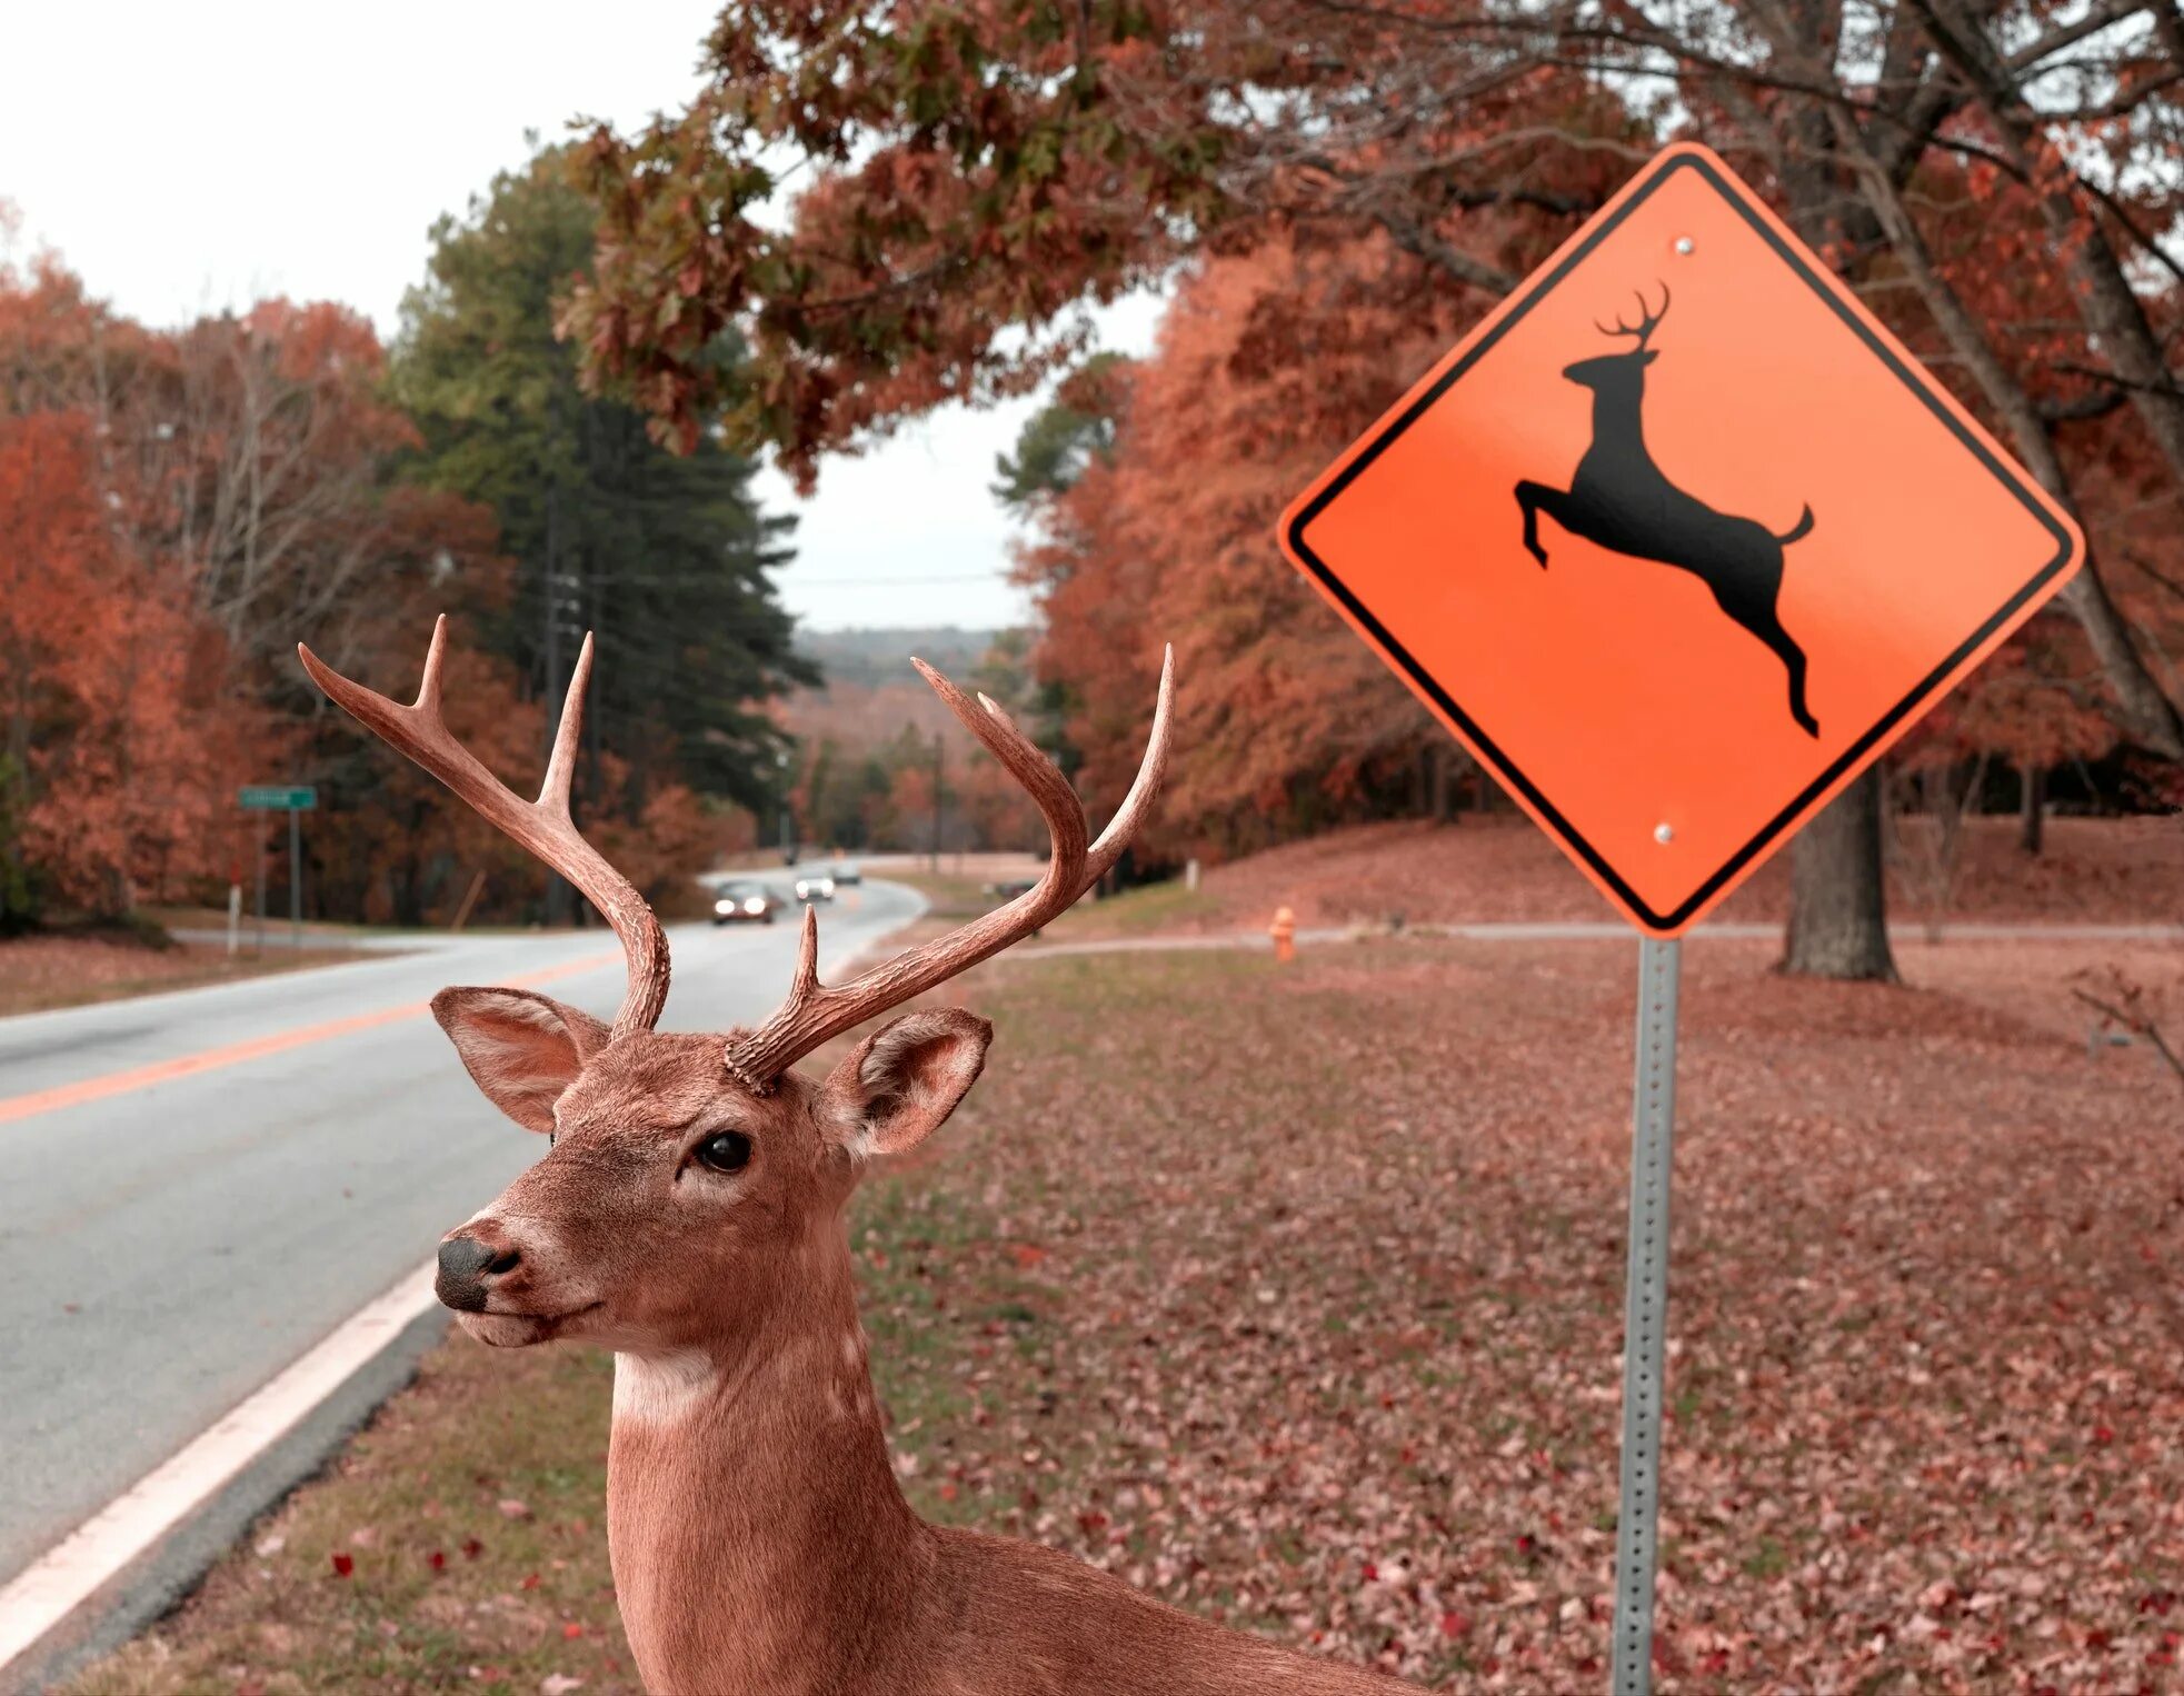
{"type": "MultiPolygon", "coordinates": [[[[1900,816],[2175,808],[2184,24],[1920,0],[736,4],[684,114],[594,131],[435,231],[393,349],[336,306],[177,332],[55,262],[0,286],[0,923],[225,882],[238,779],[321,781],[310,906],[566,917],[330,718],[304,633],[533,766],[577,633],[581,810],[655,893],[773,843],[1035,845],[906,668],[817,688],[749,454],[804,482],[941,404],[1044,391],[998,469],[1040,626],[961,655],[1085,790],[1177,762],[1149,856],[1489,799],[1273,546],[1389,397],[1664,140],[1723,151],[2084,522],[2092,563],[1793,853],[1789,963],[1889,976],[1900,816]],[[819,98],[815,89],[828,89],[819,98]],[[1158,288],[1147,358],[1088,308],[1158,288]],[[625,406],[618,397],[631,397],[625,406]],[[670,452],[673,450],[673,452],[670,452]],[[703,635],[699,635],[703,633],[703,635]],[[935,736],[939,757],[933,760],[935,736]],[[939,795],[935,795],[935,781],[939,795]],[[786,819],[784,819],[786,812],[786,819]]],[[[275,888],[282,880],[275,860],[275,888]]]]}

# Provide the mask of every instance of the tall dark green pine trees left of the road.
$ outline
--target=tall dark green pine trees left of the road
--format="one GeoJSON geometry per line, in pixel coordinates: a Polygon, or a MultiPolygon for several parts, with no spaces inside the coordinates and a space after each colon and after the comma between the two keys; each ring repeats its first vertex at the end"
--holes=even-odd
{"type": "MultiPolygon", "coordinates": [[[[590,264],[592,212],[563,168],[539,153],[435,229],[391,373],[422,432],[413,476],[498,517],[518,581],[480,633],[537,696],[559,698],[596,631],[581,779],[594,812],[636,823],[677,784],[764,812],[782,749],[767,703],[815,679],[767,578],[791,522],[758,511],[751,463],[716,439],[670,454],[638,413],[579,389],[555,306],[590,264]]],[[[732,338],[703,358],[729,373],[732,338]]]]}

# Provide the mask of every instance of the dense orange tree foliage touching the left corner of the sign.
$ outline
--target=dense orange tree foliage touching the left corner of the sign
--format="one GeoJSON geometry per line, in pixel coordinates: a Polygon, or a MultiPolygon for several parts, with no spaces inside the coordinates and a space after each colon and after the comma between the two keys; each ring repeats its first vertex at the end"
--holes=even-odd
{"type": "Polygon", "coordinates": [[[1267,242],[1208,260],[1160,351],[1072,404],[1120,423],[1044,511],[1020,572],[1048,622],[1040,670],[1079,703],[1081,784],[1129,781],[1131,703],[1177,644],[1166,840],[1262,843],[1356,805],[1367,779],[1437,738],[1424,712],[1293,581],[1273,550],[1291,489],[1468,321],[1385,240],[1267,242]]]}

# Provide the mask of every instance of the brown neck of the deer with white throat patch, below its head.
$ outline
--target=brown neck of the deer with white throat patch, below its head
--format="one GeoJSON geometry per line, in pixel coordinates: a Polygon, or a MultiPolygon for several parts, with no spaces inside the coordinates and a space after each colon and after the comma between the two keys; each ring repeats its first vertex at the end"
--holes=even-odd
{"type": "Polygon", "coordinates": [[[830,1249],[732,1340],[614,1360],[607,1545],[662,1696],[843,1689],[915,1628],[933,1532],[895,1484],[839,1227],[830,1249]]]}

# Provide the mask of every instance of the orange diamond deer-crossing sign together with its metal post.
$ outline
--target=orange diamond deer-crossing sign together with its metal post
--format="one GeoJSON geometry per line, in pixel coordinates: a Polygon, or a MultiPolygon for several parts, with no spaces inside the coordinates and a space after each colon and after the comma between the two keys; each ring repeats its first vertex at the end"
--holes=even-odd
{"type": "Polygon", "coordinates": [[[1675,939],[2009,640],[2084,539],[1690,144],[1420,378],[1280,535],[1645,939],[1612,1657],[1616,1696],[1645,1696],[1675,939]]]}

